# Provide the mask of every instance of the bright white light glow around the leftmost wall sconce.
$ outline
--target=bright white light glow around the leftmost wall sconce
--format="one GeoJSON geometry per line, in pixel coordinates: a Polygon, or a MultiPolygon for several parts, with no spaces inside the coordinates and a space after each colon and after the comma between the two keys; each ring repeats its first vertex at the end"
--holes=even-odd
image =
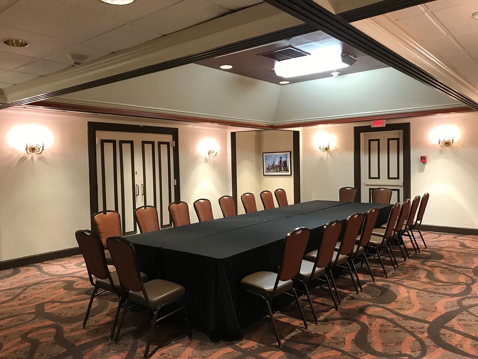
{"type": "Polygon", "coordinates": [[[25,152],[25,145],[44,145],[45,149],[53,145],[53,134],[45,126],[22,124],[12,127],[7,134],[7,143],[18,151],[25,152]]]}

